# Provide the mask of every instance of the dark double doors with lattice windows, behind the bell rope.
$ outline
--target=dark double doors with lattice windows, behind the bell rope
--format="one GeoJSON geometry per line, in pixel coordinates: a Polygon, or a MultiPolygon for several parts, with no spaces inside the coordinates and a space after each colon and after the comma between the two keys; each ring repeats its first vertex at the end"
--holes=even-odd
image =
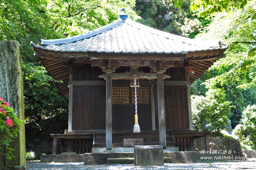
{"type": "MultiPolygon", "coordinates": [[[[150,86],[141,86],[137,98],[140,129],[152,129],[150,86]]],[[[112,102],[112,128],[133,129],[134,91],[129,86],[112,87],[112,102]]]]}

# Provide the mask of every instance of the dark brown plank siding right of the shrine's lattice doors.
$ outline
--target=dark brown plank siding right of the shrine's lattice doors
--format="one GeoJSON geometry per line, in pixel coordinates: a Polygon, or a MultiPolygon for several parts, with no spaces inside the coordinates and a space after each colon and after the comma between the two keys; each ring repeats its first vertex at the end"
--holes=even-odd
{"type": "MultiPolygon", "coordinates": [[[[170,75],[165,81],[185,81],[185,67],[170,67],[164,74],[170,75]]],[[[155,120],[158,128],[158,100],[157,90],[154,88],[155,120]]],[[[165,125],[166,129],[188,130],[188,101],[186,85],[164,86],[165,95],[165,125]]]]}

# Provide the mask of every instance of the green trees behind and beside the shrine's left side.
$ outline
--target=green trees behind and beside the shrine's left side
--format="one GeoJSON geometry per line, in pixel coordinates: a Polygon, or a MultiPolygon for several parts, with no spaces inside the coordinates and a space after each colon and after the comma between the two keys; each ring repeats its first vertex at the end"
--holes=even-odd
{"type": "Polygon", "coordinates": [[[130,18],[134,0],[0,0],[0,41],[18,40],[23,60],[26,142],[52,140],[68,124],[68,97],[63,97],[33,55],[30,41],[78,35],[118,19],[121,8],[130,18]]]}

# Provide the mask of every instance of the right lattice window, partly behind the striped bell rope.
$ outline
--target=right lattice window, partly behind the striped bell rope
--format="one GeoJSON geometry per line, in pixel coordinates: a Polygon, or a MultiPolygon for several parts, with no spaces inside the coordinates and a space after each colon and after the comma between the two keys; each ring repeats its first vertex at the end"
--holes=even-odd
{"type": "MultiPolygon", "coordinates": [[[[132,92],[133,103],[135,103],[134,91],[132,92]]],[[[137,103],[149,104],[149,101],[149,87],[140,87],[139,90],[137,90],[137,103]]]]}

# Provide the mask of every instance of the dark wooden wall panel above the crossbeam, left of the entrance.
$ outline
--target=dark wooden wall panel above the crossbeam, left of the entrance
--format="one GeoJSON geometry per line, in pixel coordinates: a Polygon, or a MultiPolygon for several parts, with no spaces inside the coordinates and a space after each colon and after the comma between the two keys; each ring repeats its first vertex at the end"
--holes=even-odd
{"type": "Polygon", "coordinates": [[[83,66],[73,67],[73,80],[104,80],[98,78],[103,74],[100,67],[91,67],[91,64],[84,64],[83,66]]]}

